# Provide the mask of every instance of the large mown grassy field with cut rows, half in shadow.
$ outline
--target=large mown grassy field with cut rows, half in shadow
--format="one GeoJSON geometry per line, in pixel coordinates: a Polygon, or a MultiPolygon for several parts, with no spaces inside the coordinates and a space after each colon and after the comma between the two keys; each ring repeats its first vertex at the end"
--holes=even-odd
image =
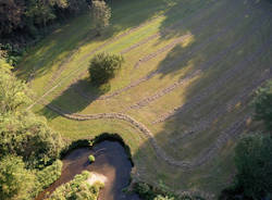
{"type": "Polygon", "coordinates": [[[84,14],[29,50],[17,75],[39,100],[32,109],[70,140],[119,133],[136,178],[217,196],[232,180],[235,140],[252,128],[252,92],[272,75],[272,7],[119,0],[111,8],[103,36],[84,14]],[[107,92],[88,83],[89,61],[101,51],[125,59],[107,92]]]}

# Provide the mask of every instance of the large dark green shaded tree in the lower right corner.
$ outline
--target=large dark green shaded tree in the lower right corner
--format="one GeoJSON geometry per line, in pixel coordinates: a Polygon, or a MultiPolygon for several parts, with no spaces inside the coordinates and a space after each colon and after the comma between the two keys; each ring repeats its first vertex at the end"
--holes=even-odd
{"type": "Polygon", "coordinates": [[[237,188],[246,197],[262,199],[272,193],[272,138],[250,135],[240,139],[235,148],[237,188]]]}

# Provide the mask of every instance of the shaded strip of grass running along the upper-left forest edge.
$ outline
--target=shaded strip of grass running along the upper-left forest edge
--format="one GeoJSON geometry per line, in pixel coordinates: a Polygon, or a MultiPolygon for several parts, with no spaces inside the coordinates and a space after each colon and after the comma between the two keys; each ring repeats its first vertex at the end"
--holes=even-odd
{"type": "Polygon", "coordinates": [[[94,34],[89,13],[75,17],[29,50],[29,55],[18,64],[17,76],[25,80],[33,75],[42,76],[51,70],[53,64],[60,63],[61,65],[63,60],[65,62],[71,59],[82,46],[104,41],[120,32],[137,27],[169,7],[165,0],[144,2],[120,0],[109,1],[109,4],[113,14],[111,25],[103,35],[94,34]]]}

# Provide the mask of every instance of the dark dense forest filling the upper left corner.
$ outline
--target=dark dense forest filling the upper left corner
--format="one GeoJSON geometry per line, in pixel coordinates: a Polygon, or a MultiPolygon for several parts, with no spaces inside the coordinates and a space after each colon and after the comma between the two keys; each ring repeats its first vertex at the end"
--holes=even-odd
{"type": "Polygon", "coordinates": [[[1,0],[0,54],[14,66],[57,24],[89,9],[90,0],[1,0]]]}

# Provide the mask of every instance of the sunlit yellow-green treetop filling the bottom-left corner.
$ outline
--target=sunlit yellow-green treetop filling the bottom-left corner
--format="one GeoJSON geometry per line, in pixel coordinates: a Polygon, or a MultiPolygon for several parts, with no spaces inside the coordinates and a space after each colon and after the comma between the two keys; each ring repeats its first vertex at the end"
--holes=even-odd
{"type": "Polygon", "coordinates": [[[0,162],[0,197],[2,200],[29,199],[35,177],[21,158],[7,155],[0,162]]]}

